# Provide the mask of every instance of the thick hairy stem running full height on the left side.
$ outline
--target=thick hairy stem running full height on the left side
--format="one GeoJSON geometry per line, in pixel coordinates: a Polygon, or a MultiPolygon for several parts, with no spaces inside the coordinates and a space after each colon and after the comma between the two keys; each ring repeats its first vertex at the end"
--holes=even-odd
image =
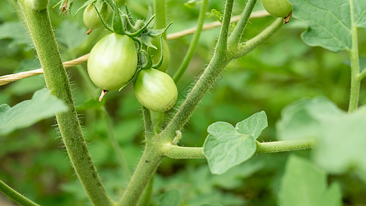
{"type": "Polygon", "coordinates": [[[69,78],[62,65],[48,10],[34,11],[31,9],[30,1],[27,0],[20,0],[19,3],[43,67],[47,88],[69,108],[65,113],[56,114],[56,119],[71,164],[93,205],[113,205],[111,198],[104,190],[93,161],[91,161],[82,135],[73,104],[69,78]]]}

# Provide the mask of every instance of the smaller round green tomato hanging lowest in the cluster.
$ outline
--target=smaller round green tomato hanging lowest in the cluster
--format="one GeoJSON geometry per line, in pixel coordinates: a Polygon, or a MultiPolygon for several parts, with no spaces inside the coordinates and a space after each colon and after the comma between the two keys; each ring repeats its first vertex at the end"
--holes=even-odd
{"type": "Polygon", "coordinates": [[[178,90],[172,78],[157,69],[141,70],[133,82],[133,91],[142,105],[156,112],[170,110],[178,97],[178,90]]]}

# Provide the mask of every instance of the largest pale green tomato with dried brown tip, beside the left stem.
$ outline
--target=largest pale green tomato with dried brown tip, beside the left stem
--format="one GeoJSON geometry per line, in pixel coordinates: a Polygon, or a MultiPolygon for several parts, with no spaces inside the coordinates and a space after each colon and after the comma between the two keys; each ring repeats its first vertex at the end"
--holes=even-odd
{"type": "Polygon", "coordinates": [[[91,49],[88,73],[100,89],[119,89],[137,69],[137,51],[132,38],[123,34],[107,34],[91,49]]]}

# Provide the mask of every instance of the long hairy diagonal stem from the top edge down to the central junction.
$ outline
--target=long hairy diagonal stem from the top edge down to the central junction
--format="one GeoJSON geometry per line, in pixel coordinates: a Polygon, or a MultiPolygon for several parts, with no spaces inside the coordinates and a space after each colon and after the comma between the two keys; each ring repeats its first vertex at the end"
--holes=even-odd
{"type": "Polygon", "coordinates": [[[179,111],[174,115],[168,126],[161,132],[161,137],[172,141],[176,130],[181,130],[187,123],[198,104],[200,104],[209,88],[212,87],[216,78],[220,75],[222,69],[225,69],[226,65],[229,63],[229,58],[227,58],[227,36],[229,34],[232,9],[233,0],[228,0],[225,5],[224,19],[222,21],[220,36],[218,38],[214,56],[201,78],[187,96],[187,99],[183,102],[181,108],[179,108],[179,111]]]}

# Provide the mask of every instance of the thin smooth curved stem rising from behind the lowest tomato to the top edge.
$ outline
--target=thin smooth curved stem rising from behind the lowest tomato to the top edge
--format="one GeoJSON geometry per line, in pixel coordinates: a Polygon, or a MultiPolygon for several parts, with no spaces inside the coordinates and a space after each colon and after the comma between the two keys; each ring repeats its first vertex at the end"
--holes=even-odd
{"type": "Polygon", "coordinates": [[[198,39],[200,38],[202,27],[203,27],[203,21],[205,20],[205,15],[206,15],[206,10],[207,10],[207,1],[208,0],[203,0],[203,2],[202,2],[200,15],[198,17],[197,30],[194,33],[190,47],[188,48],[187,54],[185,54],[181,67],[179,67],[179,69],[174,74],[174,78],[173,78],[174,82],[179,82],[179,80],[183,76],[183,73],[185,72],[185,70],[187,70],[187,67],[190,64],[190,61],[194,54],[194,50],[196,50],[196,47],[198,44],[198,39]]]}

